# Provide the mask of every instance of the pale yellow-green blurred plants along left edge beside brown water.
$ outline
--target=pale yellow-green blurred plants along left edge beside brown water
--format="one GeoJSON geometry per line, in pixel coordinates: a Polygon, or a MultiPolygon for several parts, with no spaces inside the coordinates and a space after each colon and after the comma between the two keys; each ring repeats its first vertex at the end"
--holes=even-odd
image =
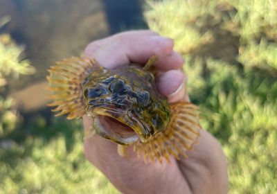
{"type": "MultiPolygon", "coordinates": [[[[9,21],[8,17],[0,18],[0,28],[9,21]]],[[[4,95],[8,80],[19,78],[20,74],[33,73],[27,60],[20,60],[23,48],[12,41],[10,35],[0,34],[0,135],[7,135],[17,124],[17,113],[12,107],[12,98],[4,95]]]]}

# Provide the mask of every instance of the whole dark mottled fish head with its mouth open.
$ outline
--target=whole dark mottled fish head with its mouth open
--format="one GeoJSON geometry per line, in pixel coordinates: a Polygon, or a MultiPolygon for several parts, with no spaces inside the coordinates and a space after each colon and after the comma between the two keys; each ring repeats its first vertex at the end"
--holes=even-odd
{"type": "Polygon", "coordinates": [[[170,121],[168,100],[159,94],[152,73],[139,67],[93,71],[82,90],[96,132],[116,143],[147,142],[170,121]]]}

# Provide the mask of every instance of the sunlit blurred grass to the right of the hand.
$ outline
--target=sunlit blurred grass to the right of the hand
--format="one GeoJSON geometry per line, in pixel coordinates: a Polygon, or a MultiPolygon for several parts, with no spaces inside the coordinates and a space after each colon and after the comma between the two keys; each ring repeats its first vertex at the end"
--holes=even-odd
{"type": "Polygon", "coordinates": [[[152,30],[175,39],[191,100],[219,139],[230,193],[277,193],[276,1],[149,1],[152,30]]]}

